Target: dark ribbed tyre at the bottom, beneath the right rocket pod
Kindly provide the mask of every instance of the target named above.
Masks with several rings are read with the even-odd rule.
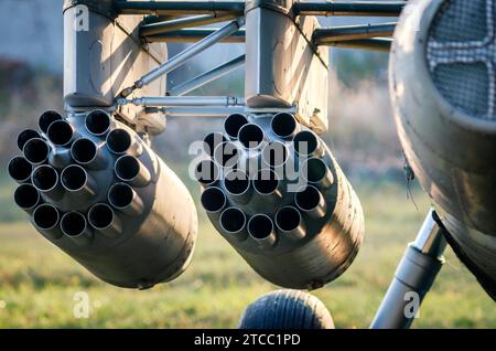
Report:
[[[324,304],[301,290],[277,290],[250,304],[239,329],[334,329]]]

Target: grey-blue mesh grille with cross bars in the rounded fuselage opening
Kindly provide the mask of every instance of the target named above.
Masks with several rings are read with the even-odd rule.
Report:
[[[496,121],[496,0],[445,0],[428,39],[428,63],[446,100]]]

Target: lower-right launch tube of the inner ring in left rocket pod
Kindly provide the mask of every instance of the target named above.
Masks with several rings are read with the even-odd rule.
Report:
[[[66,167],[61,173],[61,181],[64,189],[74,198],[90,199],[97,194],[96,181],[78,164]]]

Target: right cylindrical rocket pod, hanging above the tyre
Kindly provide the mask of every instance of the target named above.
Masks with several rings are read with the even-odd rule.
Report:
[[[231,140],[203,161],[219,181],[196,177],[215,228],[272,284],[315,289],[337,278],[362,245],[364,213],[324,141],[285,113],[233,115],[224,128]]]

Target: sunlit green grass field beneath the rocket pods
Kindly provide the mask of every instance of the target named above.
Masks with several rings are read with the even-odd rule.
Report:
[[[429,201],[414,192],[419,210],[400,185],[359,185],[366,238],[354,265],[314,291],[337,328],[367,328],[406,244],[414,237]],[[246,306],[276,289],[250,270],[205,219],[193,264],[179,279],[147,291],[111,287],[41,238],[18,210],[0,203],[1,328],[235,328]],[[496,328],[496,305],[451,249],[416,328]],[[73,313],[74,294],[86,291],[88,319]]]

